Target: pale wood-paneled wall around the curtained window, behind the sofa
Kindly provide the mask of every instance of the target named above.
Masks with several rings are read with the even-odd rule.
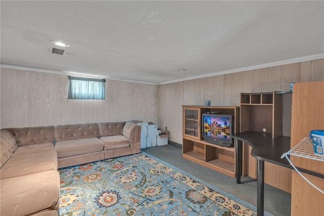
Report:
[[[67,75],[1,68],[0,79],[1,128],[158,119],[157,85],[106,80],[105,100],[71,100]]]

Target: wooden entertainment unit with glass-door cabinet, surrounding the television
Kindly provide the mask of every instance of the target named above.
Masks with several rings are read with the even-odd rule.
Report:
[[[234,131],[239,129],[238,107],[183,105],[182,157],[216,171],[235,177],[234,147],[223,147],[205,142],[201,136],[201,115],[205,112],[234,115]],[[193,131],[193,133],[190,133]]]

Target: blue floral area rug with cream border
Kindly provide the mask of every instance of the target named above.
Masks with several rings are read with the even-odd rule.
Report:
[[[59,172],[59,215],[256,215],[142,153]]]

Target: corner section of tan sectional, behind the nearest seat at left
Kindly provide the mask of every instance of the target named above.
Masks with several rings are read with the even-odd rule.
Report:
[[[54,126],[2,129],[1,147],[17,146],[0,169],[0,179],[57,170]],[[10,136],[11,135],[11,136]]]

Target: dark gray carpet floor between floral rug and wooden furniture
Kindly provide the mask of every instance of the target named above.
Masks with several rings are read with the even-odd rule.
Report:
[[[236,179],[182,158],[182,148],[176,145],[153,146],[142,151],[176,166],[192,176],[214,185],[254,206],[257,205],[257,182],[250,177]],[[290,215],[291,194],[270,185],[264,186],[264,209],[273,215]]]

